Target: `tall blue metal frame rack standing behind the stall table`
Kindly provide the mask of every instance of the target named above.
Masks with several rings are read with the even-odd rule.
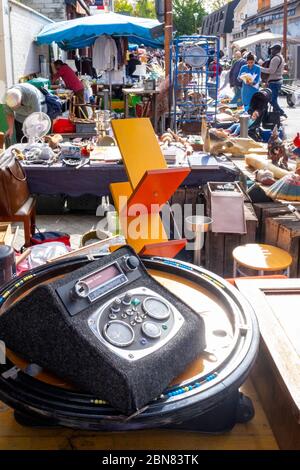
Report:
[[[215,121],[219,75],[209,67],[213,59],[219,66],[220,42],[216,36],[180,36],[172,48],[172,82],[174,93],[174,129],[182,130],[207,121]],[[190,124],[188,124],[190,123]],[[195,124],[194,124],[195,126]],[[197,124],[196,124],[197,126]]]

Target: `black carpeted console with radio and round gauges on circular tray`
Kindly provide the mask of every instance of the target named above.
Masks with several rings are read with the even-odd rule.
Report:
[[[0,316],[0,339],[126,415],[159,397],[206,346],[202,317],[129,246],[40,284]]]

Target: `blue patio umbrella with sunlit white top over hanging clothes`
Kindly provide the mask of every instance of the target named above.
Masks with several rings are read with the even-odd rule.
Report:
[[[163,25],[157,20],[120,15],[113,12],[60,21],[45,26],[38,44],[56,42],[61,49],[77,49],[94,44],[103,35],[126,36],[130,42],[163,47]]]

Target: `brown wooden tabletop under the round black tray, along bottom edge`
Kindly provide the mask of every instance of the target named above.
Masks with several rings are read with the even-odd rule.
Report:
[[[230,433],[205,435],[197,432],[147,430],[91,432],[67,428],[30,428],[15,422],[9,408],[1,413],[1,450],[276,450],[276,440],[250,380],[242,391],[255,408],[254,418],[237,424]]]

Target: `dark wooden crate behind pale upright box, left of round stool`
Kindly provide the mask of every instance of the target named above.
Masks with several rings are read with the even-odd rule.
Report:
[[[255,243],[257,217],[252,204],[244,203],[246,233],[208,232],[205,240],[205,267],[222,277],[232,277],[234,248]]]

